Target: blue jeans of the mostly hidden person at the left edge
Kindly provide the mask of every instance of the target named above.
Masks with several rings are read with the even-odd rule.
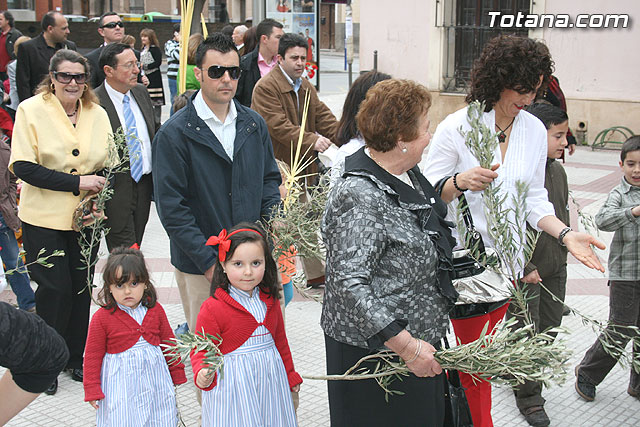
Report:
[[[7,271],[24,266],[22,258],[18,258],[18,241],[13,230],[7,227],[2,214],[0,214],[0,257],[6,266]],[[31,289],[31,281],[27,273],[17,271],[7,275],[7,281],[11,285],[13,293],[16,294],[18,307],[22,310],[29,310],[36,305],[36,297]]]

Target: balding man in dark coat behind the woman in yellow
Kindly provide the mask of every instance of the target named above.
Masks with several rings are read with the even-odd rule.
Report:
[[[16,63],[16,86],[20,102],[31,98],[49,74],[49,61],[60,49],[76,50],[76,44],[67,40],[69,24],[60,12],[47,12],[42,17],[42,33],[20,45]]]

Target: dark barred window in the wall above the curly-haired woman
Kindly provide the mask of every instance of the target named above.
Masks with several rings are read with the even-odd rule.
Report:
[[[490,27],[489,12],[528,14],[531,0],[443,0],[440,25],[444,28],[443,91],[466,92],[473,61],[485,43],[500,34],[528,35],[526,28]]]

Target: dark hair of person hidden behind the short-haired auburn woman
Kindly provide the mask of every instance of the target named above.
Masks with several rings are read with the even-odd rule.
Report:
[[[356,114],[358,114],[360,104],[364,101],[365,96],[367,96],[367,91],[376,83],[390,78],[391,76],[389,74],[379,73],[373,70],[367,71],[353,82],[353,86],[349,89],[349,93],[347,93],[347,97],[344,100],[342,117],[338,122],[338,128],[336,130],[336,139],[334,142],[338,147],[351,141],[360,133],[358,131],[358,124],[356,123]]]

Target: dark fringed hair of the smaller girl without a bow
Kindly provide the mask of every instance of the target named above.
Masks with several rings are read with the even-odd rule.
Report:
[[[111,295],[109,287],[127,283],[131,278],[136,282],[144,283],[145,290],[142,294],[141,304],[147,308],[156,305],[158,294],[151,283],[142,252],[124,246],[113,249],[107,258],[107,264],[102,272],[104,283],[98,293],[98,303],[104,308],[115,311],[118,304]]]

